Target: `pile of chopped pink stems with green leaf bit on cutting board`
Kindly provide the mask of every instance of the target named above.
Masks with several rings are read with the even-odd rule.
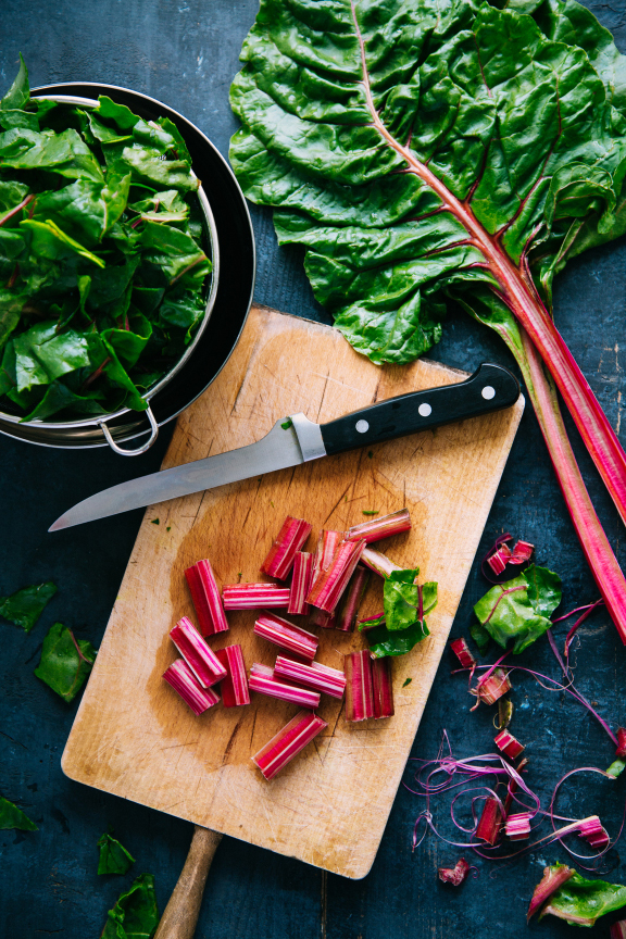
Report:
[[[347,533],[325,529],[311,554],[301,550],[311,525],[289,515],[260,567],[266,576],[283,581],[291,574],[288,587],[275,580],[239,583],[223,585],[220,592],[208,560],[185,571],[200,628],[184,616],[171,630],[170,638],[183,658],[166,669],[165,681],[197,716],[220,701],[218,684],[225,708],[249,704],[250,691],[256,691],[303,709],[252,756],[266,779],[273,779],[327,726],[315,714],[322,694],[341,700],[346,693],[346,719],[350,722],[393,716],[387,656],[410,651],[428,635],[424,617],[436,605],[437,585],[417,585],[418,568],[402,569],[366,546],[410,528],[409,512],[402,509]],[[311,625],[349,633],[370,580],[368,568],[385,578],[385,612],[367,628],[368,621],[360,622],[359,629],[371,648],[348,653],[345,671],[333,668],[315,660],[318,639],[313,633],[274,611],[311,613]],[[254,662],[247,676],[241,646],[213,652],[206,639],[228,629],[226,610],[259,608],[264,609],[256,616],[254,634],[283,651],[274,666]]]

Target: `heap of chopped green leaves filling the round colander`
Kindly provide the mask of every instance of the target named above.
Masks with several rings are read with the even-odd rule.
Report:
[[[176,126],[101,97],[0,101],[0,411],[148,405],[204,316],[199,180]]]

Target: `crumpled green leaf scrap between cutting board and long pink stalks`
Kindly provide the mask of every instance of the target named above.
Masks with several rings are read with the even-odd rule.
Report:
[[[480,626],[503,649],[523,652],[552,625],[550,615],[561,602],[561,578],[531,564],[518,577],[497,584],[474,606]],[[476,639],[481,635],[472,630]]]

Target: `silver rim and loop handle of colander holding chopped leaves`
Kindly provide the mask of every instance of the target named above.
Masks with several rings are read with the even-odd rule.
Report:
[[[93,85],[93,87],[107,87],[107,88],[110,88],[112,91],[115,91],[116,89],[118,89],[121,91],[129,91],[129,92],[135,93],[135,95],[140,93],[140,92],[133,91],[130,88],[123,88],[121,86],[114,86],[114,85],[98,86],[96,83],[85,83],[85,84]],[[33,89],[33,90],[37,91],[37,89]],[[34,100],[57,101],[57,102],[63,103],[63,104],[80,104],[85,108],[97,108],[98,107],[98,101],[95,98],[83,98],[83,97],[76,96],[76,95],[46,95],[46,93],[36,95],[36,93],[34,93],[34,95],[32,95],[32,97]],[[147,95],[141,95],[141,97],[148,99],[149,101],[154,102],[155,104],[162,103],[162,102],[158,101],[155,98],[149,98],[149,96],[147,96]],[[167,105],[164,105],[164,107],[167,107]],[[168,108],[168,110],[172,111],[173,109]],[[178,113],[178,112],[175,112],[175,113]],[[179,115],[179,116],[183,116],[183,115]],[[185,120],[187,121],[187,118],[185,118]],[[188,123],[190,123],[190,122],[188,122]],[[202,133],[202,132],[199,132],[199,133]],[[202,136],[204,136],[204,135],[202,135]],[[208,138],[205,138],[205,139],[208,140]],[[191,170],[191,173],[192,173],[192,175],[195,175],[192,170]],[[191,354],[196,350],[196,347],[198,346],[198,342],[200,341],[206,326],[209,325],[209,321],[211,318],[211,314],[212,314],[213,308],[215,305],[215,299],[217,296],[217,287],[218,287],[218,281],[220,281],[220,243],[218,243],[218,237],[217,237],[217,228],[215,226],[215,220],[213,217],[213,212],[211,211],[211,205],[210,205],[209,199],[206,198],[206,193],[204,192],[204,189],[201,185],[199,186],[199,188],[197,190],[197,195],[198,195],[198,199],[200,202],[200,206],[201,206],[203,215],[204,215],[204,221],[206,223],[209,242],[210,242],[210,247],[211,247],[211,264],[212,264],[211,286],[210,286],[209,293],[206,297],[204,316],[202,317],[202,323],[198,327],[196,335],[193,336],[193,339],[191,340],[191,342],[189,343],[189,347],[185,350],[185,352],[183,353],[180,359],[178,359],[176,361],[176,363],[172,366],[172,368],[162,378],[160,378],[155,385],[153,385],[151,388],[148,389],[148,391],[146,391],[143,395],[141,395],[141,398],[148,402],[148,405],[149,405],[150,400],[154,397],[154,395],[156,395],[159,391],[161,391],[168,384],[168,381],[175,375],[177,375],[178,372],[188,362]],[[8,423],[8,424],[20,424],[22,426],[32,426],[32,427],[37,427],[37,428],[40,428],[43,430],[76,429],[76,428],[80,428],[80,427],[85,427],[85,428],[100,427],[101,429],[103,429],[107,422],[114,421],[118,417],[122,417],[124,414],[137,414],[138,416],[141,414],[148,415],[148,417],[150,420],[150,425],[152,427],[152,434],[151,434],[149,441],[147,441],[145,447],[140,448],[139,450],[128,451],[129,453],[130,452],[133,452],[133,453],[143,452],[145,449],[148,449],[148,447],[151,446],[151,443],[154,441],[154,439],[156,437],[156,434],[159,433],[158,426],[156,426],[156,428],[154,428],[154,423],[153,423],[153,417],[151,416],[150,406],[148,406],[148,409],[146,411],[134,411],[132,408],[121,408],[117,411],[111,411],[111,412],[108,412],[107,414],[97,414],[89,420],[76,418],[74,421],[38,421],[36,418],[35,421],[27,421],[27,422],[25,422],[23,420],[23,417],[20,417],[16,414],[10,414],[7,411],[0,410],[0,422]],[[174,415],[174,416],[176,416],[176,415]],[[150,429],[150,428],[148,428],[148,429]],[[124,439],[130,440],[130,439],[134,439],[135,437],[139,437],[146,433],[148,433],[148,430],[141,429],[141,430],[138,430],[136,434],[133,434],[132,437],[125,437]],[[33,441],[33,442],[39,443],[40,441]],[[42,446],[47,446],[47,445],[42,445]],[[114,443],[111,440],[109,440],[109,437],[107,434],[105,434],[105,440],[100,446],[104,446],[104,447],[111,446],[114,450],[116,450],[120,453],[125,452],[125,451],[118,449],[116,446],[114,446]]]

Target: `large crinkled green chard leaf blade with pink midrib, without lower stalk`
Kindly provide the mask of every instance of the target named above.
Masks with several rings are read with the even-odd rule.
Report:
[[[437,341],[451,291],[501,290],[486,243],[535,248],[549,300],[626,228],[624,58],[574,0],[263,0],[241,59],[239,181],[376,362]]]

